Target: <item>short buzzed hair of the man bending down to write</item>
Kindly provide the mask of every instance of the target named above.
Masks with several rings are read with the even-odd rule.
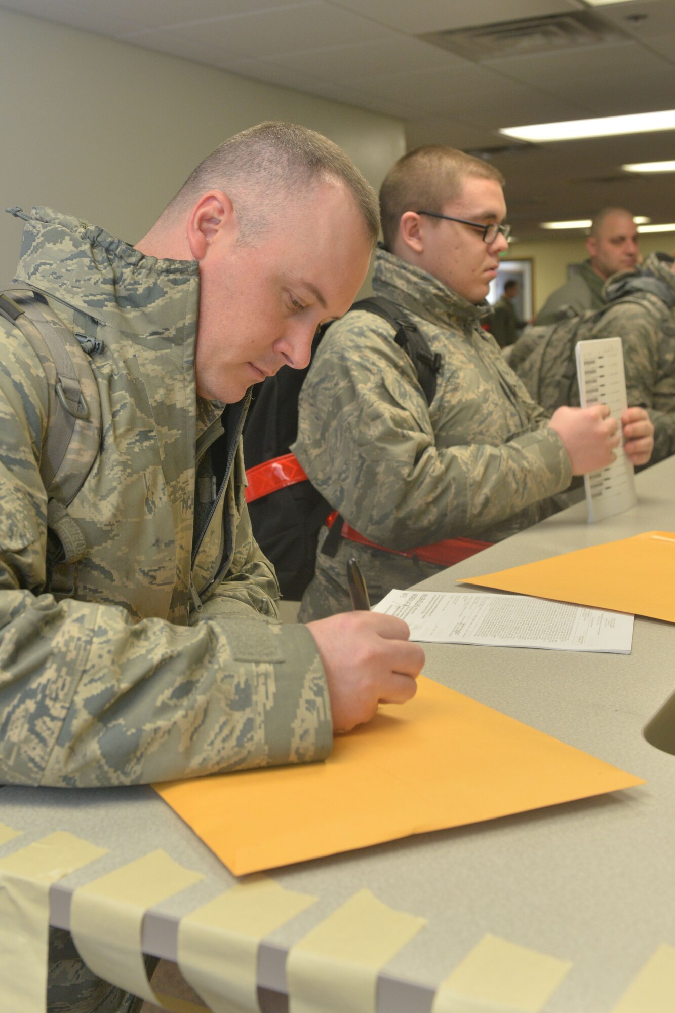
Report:
[[[174,219],[202,193],[221,189],[237,214],[238,241],[247,242],[283,213],[290,197],[328,180],[342,182],[354,198],[374,247],[380,228],[375,190],[342,148],[297,124],[270,121],[223,141],[190,174],[162,218]]]

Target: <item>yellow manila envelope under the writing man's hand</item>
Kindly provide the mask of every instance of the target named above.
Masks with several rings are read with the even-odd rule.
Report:
[[[335,737],[324,763],[153,787],[243,875],[644,784],[491,707],[419,678]]]

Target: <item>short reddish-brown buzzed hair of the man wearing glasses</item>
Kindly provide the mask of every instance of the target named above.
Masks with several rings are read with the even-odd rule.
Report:
[[[494,179],[504,186],[499,169],[456,148],[429,144],[408,151],[387,172],[380,187],[380,217],[384,246],[393,248],[401,215],[431,211],[439,215],[448,201],[458,198],[464,179]]]

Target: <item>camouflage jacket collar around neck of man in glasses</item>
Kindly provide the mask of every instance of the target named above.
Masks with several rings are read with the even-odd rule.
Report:
[[[430,323],[443,327],[456,327],[457,323],[462,328],[472,323],[479,326],[479,321],[492,313],[492,306],[484,300],[477,305],[467,302],[433,275],[381,246],[375,253],[373,290]]]

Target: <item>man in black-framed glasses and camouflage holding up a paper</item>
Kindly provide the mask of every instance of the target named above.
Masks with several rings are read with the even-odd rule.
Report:
[[[489,163],[432,146],[400,158],[382,184],[373,289],[425,339],[435,392],[428,403],[380,317],[351,311],[324,336],[293,450],[339,516],[319,538],[304,620],[349,606],[350,556],[375,602],[534,524],[574,475],[614,459],[620,423],[633,461],[649,459],[644,409],[620,420],[604,406],[549,417],[482,329],[510,235],[504,182]]]

